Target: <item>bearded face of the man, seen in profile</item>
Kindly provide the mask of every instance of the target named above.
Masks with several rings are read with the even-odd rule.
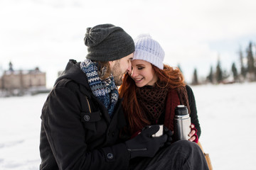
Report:
[[[122,57],[122,59],[114,60],[113,62],[110,62],[110,68],[112,75],[114,77],[114,83],[117,86],[122,85],[122,79],[124,77],[124,74],[127,72],[132,71],[132,60],[133,53],[130,55],[127,55],[126,57]]]

